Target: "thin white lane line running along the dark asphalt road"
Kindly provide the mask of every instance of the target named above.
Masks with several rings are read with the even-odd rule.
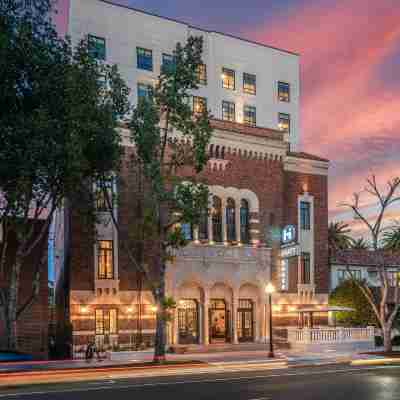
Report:
[[[300,373],[285,373],[285,374],[271,374],[271,375],[256,375],[256,376],[238,376],[230,378],[215,378],[215,379],[192,379],[188,381],[173,381],[173,382],[154,382],[154,383],[139,383],[131,385],[115,385],[115,386],[98,386],[90,388],[76,388],[76,389],[64,389],[64,390],[49,390],[49,391],[36,391],[36,392],[21,392],[21,393],[4,393],[0,394],[0,398],[7,397],[22,397],[22,396],[36,396],[43,394],[54,394],[54,393],[75,393],[75,392],[88,392],[88,391],[98,391],[98,390],[123,390],[123,389],[136,389],[142,387],[156,387],[156,386],[172,386],[172,385],[187,385],[196,383],[215,383],[215,382],[233,382],[233,381],[251,381],[258,379],[269,379],[277,377],[286,376],[308,376],[308,375],[324,375],[324,374],[336,374],[336,373],[357,373],[363,371],[376,371],[380,369],[399,369],[400,366],[390,365],[390,366],[379,366],[373,368],[346,368],[346,369],[333,369],[327,371],[307,371]]]

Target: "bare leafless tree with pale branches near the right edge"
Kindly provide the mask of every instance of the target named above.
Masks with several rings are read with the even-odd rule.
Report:
[[[400,200],[399,188],[400,178],[393,178],[386,184],[385,189],[378,186],[376,177],[372,175],[366,180],[364,192],[369,194],[378,203],[378,214],[374,221],[370,221],[362,212],[360,207],[360,193],[354,193],[351,203],[344,203],[343,206],[349,208],[355,217],[365,225],[371,235],[371,247],[377,259],[377,270],[380,281],[379,296],[375,296],[371,288],[365,282],[354,279],[349,263],[346,265],[347,271],[352,276],[354,282],[370,303],[382,328],[383,341],[386,352],[392,350],[391,331],[396,315],[400,310],[400,286],[391,287],[387,266],[385,265],[385,252],[381,249],[381,239],[385,232],[383,221],[388,208]]]

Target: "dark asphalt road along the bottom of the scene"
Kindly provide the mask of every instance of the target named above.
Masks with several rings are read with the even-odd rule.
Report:
[[[2,389],[0,400],[399,400],[400,367],[325,366]]]

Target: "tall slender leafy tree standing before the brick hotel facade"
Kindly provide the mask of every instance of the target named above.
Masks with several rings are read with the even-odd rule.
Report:
[[[151,243],[158,259],[152,264],[144,261],[146,257],[135,256],[126,242],[124,250],[145,277],[157,304],[155,362],[165,360],[165,325],[174,304],[165,292],[167,263],[174,249],[187,244],[182,224],[198,224],[208,208],[208,189],[199,173],[207,162],[210,115],[206,106],[197,110],[190,106],[191,91],[199,84],[202,48],[201,37],[176,45],[174,62],[164,66],[154,90],[139,100],[128,125],[135,148],[132,165],[136,172],[141,169],[146,183],[142,219],[135,221],[136,229],[141,226],[141,253],[148,254],[144,248]],[[113,220],[120,232],[118,221]],[[124,241],[123,235],[119,238]]]

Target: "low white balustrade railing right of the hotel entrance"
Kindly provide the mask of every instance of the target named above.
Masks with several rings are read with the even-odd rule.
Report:
[[[374,340],[374,327],[288,329],[289,343],[349,343]]]

